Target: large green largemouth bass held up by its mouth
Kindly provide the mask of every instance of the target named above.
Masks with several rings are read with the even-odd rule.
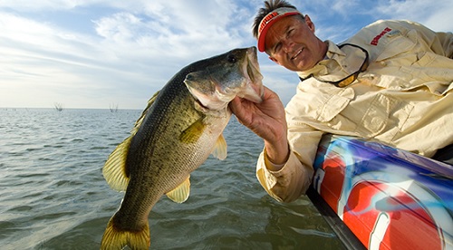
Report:
[[[211,153],[226,158],[228,103],[236,96],[262,101],[262,79],[256,48],[236,49],[189,64],[149,100],[130,137],[102,168],[107,183],[126,193],[101,249],[149,248],[151,208],[164,194],[184,202],[190,172]]]

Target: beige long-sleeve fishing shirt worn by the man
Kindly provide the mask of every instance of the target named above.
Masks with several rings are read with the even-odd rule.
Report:
[[[279,171],[265,150],[256,176],[269,195],[289,202],[312,182],[324,133],[355,136],[432,157],[453,143],[453,34],[416,23],[378,21],[344,43],[328,43],[326,59],[306,72],[285,108],[291,149]],[[344,44],[343,43],[343,44]],[[350,85],[338,81],[369,66]],[[310,77],[313,75],[313,77]]]

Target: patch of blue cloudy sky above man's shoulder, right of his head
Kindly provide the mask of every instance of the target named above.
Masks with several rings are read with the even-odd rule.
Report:
[[[425,0],[295,2],[304,14],[310,15],[318,36],[335,43],[341,43],[361,27],[379,19],[415,21],[435,31],[453,30],[453,15],[450,14],[453,13],[453,5],[450,0],[439,0],[435,5]]]

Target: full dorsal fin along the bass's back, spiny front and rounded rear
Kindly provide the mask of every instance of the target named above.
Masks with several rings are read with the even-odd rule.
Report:
[[[126,169],[126,159],[128,157],[130,141],[139,130],[141,123],[146,116],[146,113],[148,112],[154,101],[156,101],[158,95],[159,91],[157,91],[151,97],[151,99],[149,99],[148,106],[143,112],[141,112],[139,120],[135,122],[134,128],[130,130],[130,137],[124,139],[124,141],[121,142],[120,145],[118,145],[116,149],[113,150],[113,152],[111,152],[109,159],[107,159],[107,161],[105,162],[104,168],[102,168],[102,175],[104,176],[109,186],[114,190],[126,191],[126,188],[128,187],[129,177]]]

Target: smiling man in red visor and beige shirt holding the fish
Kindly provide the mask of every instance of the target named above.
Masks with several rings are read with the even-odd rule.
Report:
[[[453,34],[379,21],[337,45],[314,31],[310,17],[293,5],[265,2],[255,17],[258,49],[302,82],[285,109],[269,89],[261,103],[236,98],[230,104],[265,140],[256,176],[269,195],[290,202],[305,193],[325,133],[451,156]]]

